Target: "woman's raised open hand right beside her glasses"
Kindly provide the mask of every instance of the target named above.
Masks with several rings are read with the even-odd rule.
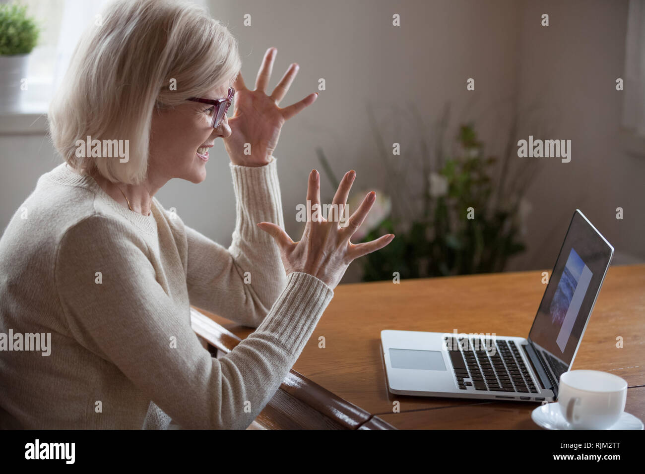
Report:
[[[266,50],[264,61],[257,73],[255,90],[246,88],[242,73],[237,75],[233,83],[235,88],[233,116],[228,119],[231,135],[224,138],[226,152],[233,164],[264,166],[269,163],[284,122],[306,106],[313,104],[318,97],[314,92],[288,107],[278,106],[289,90],[293,78],[298,74],[299,66],[296,63],[293,63],[284,73],[273,93],[266,95],[266,86],[271,77],[275,54],[277,54],[276,48]],[[248,149],[247,143],[250,144],[250,155],[244,154],[244,150]]]

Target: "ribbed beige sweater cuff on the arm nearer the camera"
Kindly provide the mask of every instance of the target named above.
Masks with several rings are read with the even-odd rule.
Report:
[[[309,273],[292,272],[283,292],[254,333],[275,337],[289,355],[300,353],[333,298],[333,290]]]

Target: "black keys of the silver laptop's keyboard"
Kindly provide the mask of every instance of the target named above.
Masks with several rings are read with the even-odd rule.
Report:
[[[475,390],[539,393],[515,342],[463,337],[457,342],[452,336],[444,341],[461,390],[474,386]]]

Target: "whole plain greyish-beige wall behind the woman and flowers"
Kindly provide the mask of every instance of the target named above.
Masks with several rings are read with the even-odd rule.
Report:
[[[368,102],[384,142],[402,144],[395,166],[404,168],[412,166],[419,137],[432,143],[432,124],[446,101],[453,103],[452,126],[458,116],[477,119],[492,152],[506,138],[504,117],[514,108],[510,98],[518,94],[521,107],[535,97],[544,101],[543,119],[557,127],[552,138],[572,139],[573,157],[566,164],[543,159],[528,192],[533,204],[529,249],[508,270],[552,266],[576,206],[617,251],[645,259],[637,238],[644,230],[639,181],[645,159],[623,153],[615,137],[620,93],[613,82],[622,74],[626,1],[226,0],[208,5],[239,38],[247,86],[255,83],[270,46],[278,54],[269,90],[290,63],[300,65],[281,106],[317,91],[319,78],[326,80],[317,101],[285,124],[275,150],[286,231],[294,240],[301,228],[295,206],[304,202],[310,170],[321,170],[317,146],[339,177],[356,170],[354,192],[382,188],[388,180],[368,124]],[[542,10],[551,15],[551,26],[544,29]],[[243,26],[246,13],[252,26]],[[401,15],[399,28],[392,26],[394,13]],[[468,77],[475,78],[475,92],[466,91]],[[551,84],[554,88],[542,95]],[[421,123],[413,120],[410,102],[419,108]],[[498,115],[495,106],[502,107]],[[175,206],[186,224],[228,245],[235,203],[228,157],[218,142],[204,183],[173,180],[157,197],[164,206]],[[0,136],[1,228],[37,177],[55,164],[44,137]],[[324,175],[322,182],[321,196],[330,200],[335,190]],[[617,206],[625,208],[624,221],[613,219]],[[344,282],[357,279],[358,267],[358,262],[350,266]]]

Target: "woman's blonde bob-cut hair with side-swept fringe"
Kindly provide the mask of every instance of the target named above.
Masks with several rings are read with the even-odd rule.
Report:
[[[50,138],[66,163],[112,182],[139,184],[148,170],[156,110],[230,84],[237,40],[186,0],[115,0],[77,44],[49,108]],[[175,86],[173,86],[175,84]],[[77,141],[128,140],[128,159],[81,156]],[[94,154],[94,153],[90,153]]]

